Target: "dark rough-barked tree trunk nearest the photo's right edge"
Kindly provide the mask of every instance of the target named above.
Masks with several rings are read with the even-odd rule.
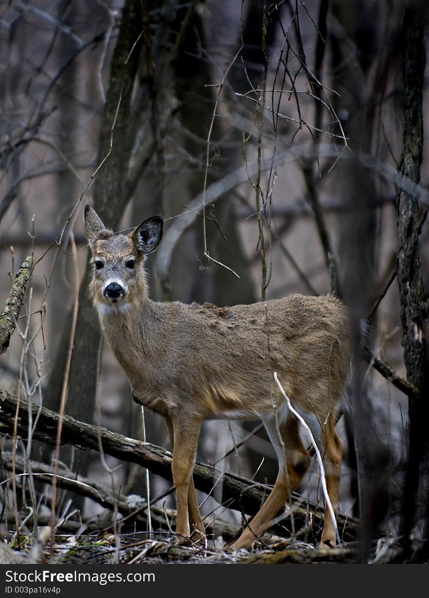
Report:
[[[421,397],[409,395],[409,453],[401,532],[406,554],[416,523],[420,466],[429,415],[427,305],[419,255],[418,194],[412,184],[420,182],[423,148],[422,93],[425,71],[424,16],[416,5],[407,7],[403,19],[403,138],[398,166],[398,284],[401,301],[404,360],[407,379]],[[427,515],[426,515],[427,517]],[[427,528],[426,528],[427,530]]]

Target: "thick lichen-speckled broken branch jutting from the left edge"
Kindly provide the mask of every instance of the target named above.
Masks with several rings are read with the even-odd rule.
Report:
[[[15,282],[10,289],[4,312],[0,316],[0,354],[7,351],[10,338],[15,331],[35,263],[35,258],[29,255],[16,273]]]

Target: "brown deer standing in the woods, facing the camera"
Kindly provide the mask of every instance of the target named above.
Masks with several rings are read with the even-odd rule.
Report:
[[[232,307],[153,301],[145,260],[162,238],[160,216],[128,234],[114,233],[86,205],[84,233],[92,251],[89,292],[102,332],[134,401],[165,419],[177,536],[205,538],[192,476],[203,420],[262,420],[278,458],[275,484],[232,550],[250,548],[263,535],[308,471],[311,456],[274,371],[291,405],[316,422],[336,512],[342,441],[335,424],[351,358],[348,311],[341,301],[299,294]],[[325,506],[321,547],[336,545],[335,529]]]

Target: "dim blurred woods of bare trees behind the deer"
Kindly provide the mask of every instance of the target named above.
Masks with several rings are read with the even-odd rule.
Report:
[[[73,231],[81,283],[65,411],[142,438],[141,412],[87,295],[86,202],[114,230],[166,219],[148,260],[158,300],[251,303],[324,294],[334,281],[355,345],[338,424],[339,510],[360,518],[356,559],[382,545],[397,546],[400,561],[427,559],[427,16],[425,2],[403,0],[1,2],[2,303],[32,245],[39,261],[0,388],[60,408]],[[223,458],[253,428],[205,423],[198,459],[272,483],[264,431]],[[145,434],[169,447],[150,413]],[[7,434],[2,444],[10,450]],[[31,459],[53,457],[35,440],[17,451],[27,472]],[[60,460],[115,492],[147,496],[139,466],[66,446]],[[148,480],[150,498],[169,486]],[[3,489],[2,525],[13,530],[10,483]],[[40,522],[50,490],[20,480],[22,518],[31,489],[42,492]],[[317,501],[316,468],[300,490]],[[203,512],[240,523],[217,496]],[[59,518],[100,513],[77,493],[58,494]]]

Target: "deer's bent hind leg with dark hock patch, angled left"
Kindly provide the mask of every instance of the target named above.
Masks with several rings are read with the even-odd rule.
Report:
[[[308,451],[302,444],[299,435],[299,422],[296,417],[288,417],[278,426],[273,416],[264,418],[263,422],[277,453],[279,472],[270,495],[250,525],[232,544],[231,548],[233,549],[249,548],[255,540],[255,536],[260,536],[265,532],[276,514],[284,507],[290,493],[302,480],[311,461]]]

